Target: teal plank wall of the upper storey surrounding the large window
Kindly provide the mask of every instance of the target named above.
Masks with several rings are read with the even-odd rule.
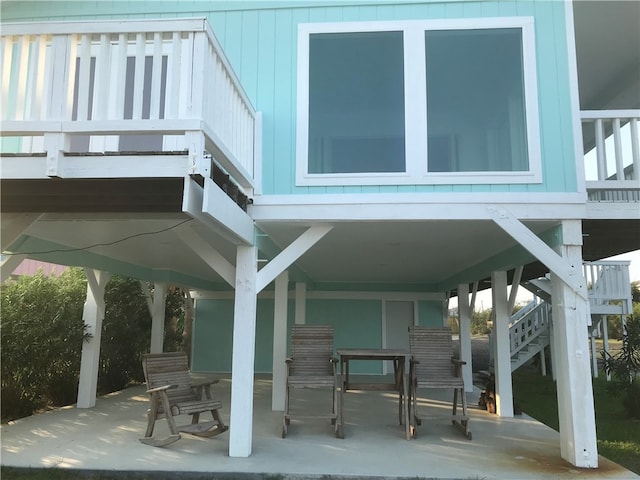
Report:
[[[198,17],[209,19],[257,110],[263,113],[264,194],[359,192],[575,192],[564,2],[2,2],[3,21]],[[316,6],[311,6],[316,5]],[[276,7],[277,6],[277,7]],[[289,8],[295,7],[295,8]],[[228,10],[225,10],[228,9]],[[303,22],[533,16],[542,184],[296,187],[297,25]]]

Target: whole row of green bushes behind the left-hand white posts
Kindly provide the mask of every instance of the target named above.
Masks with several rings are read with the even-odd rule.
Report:
[[[84,270],[60,277],[41,272],[9,281],[0,290],[1,415],[7,421],[47,406],[74,403],[83,339],[87,282]],[[165,351],[179,350],[184,294],[171,289],[165,315]],[[151,317],[137,280],[114,276],[105,290],[98,393],[144,379],[141,356],[149,351]]]

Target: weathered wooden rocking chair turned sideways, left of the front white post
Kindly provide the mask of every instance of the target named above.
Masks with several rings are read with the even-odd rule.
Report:
[[[219,400],[211,398],[211,385],[218,380],[192,383],[187,355],[183,352],[147,354],[142,358],[142,368],[147,382],[151,406],[147,412],[147,431],[139,440],[154,447],[164,447],[180,440],[180,432],[199,437],[212,437],[226,432],[218,409]],[[211,412],[213,421],[200,422],[200,414]],[[191,415],[191,424],[176,425],[175,416]],[[156,420],[165,417],[171,435],[154,438]]]

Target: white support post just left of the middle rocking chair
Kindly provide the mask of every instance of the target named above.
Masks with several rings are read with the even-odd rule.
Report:
[[[273,311],[273,381],[271,410],[284,411],[287,381],[285,358],[287,357],[287,305],[289,301],[289,272],[285,270],[276,277],[276,292]]]

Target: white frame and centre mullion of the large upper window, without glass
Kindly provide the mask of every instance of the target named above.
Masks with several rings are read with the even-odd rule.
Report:
[[[522,57],[529,170],[427,172],[427,93],[425,32],[519,28]],[[404,42],[405,171],[382,173],[309,173],[309,39],[316,33],[401,31]],[[430,185],[541,183],[542,162],[538,114],[533,17],[447,20],[301,23],[298,25],[296,185]]]

